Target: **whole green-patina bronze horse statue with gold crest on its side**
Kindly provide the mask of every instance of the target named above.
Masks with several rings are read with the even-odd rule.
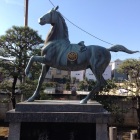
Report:
[[[101,91],[106,85],[102,74],[111,60],[110,51],[123,51],[126,53],[136,53],[122,45],[115,45],[109,49],[102,46],[90,45],[85,46],[81,41],[78,44],[71,44],[68,36],[68,28],[58,6],[50,10],[47,14],[39,19],[40,25],[51,24],[51,30],[46,38],[41,56],[32,56],[25,69],[25,74],[31,77],[30,68],[33,62],[42,63],[42,73],[38,80],[37,88],[34,94],[27,100],[32,102],[39,95],[41,85],[45,79],[46,73],[50,67],[67,71],[77,71],[90,68],[96,77],[96,85],[92,91],[80,101],[81,104],[87,103],[92,95]]]

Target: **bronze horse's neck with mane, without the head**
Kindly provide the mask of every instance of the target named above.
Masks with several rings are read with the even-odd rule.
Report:
[[[52,40],[69,38],[68,27],[66,25],[65,19],[60,12],[55,11],[58,14],[58,21],[52,24],[51,30],[48,33],[45,44]]]

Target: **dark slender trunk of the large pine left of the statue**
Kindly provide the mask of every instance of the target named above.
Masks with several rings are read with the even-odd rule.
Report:
[[[12,106],[13,106],[13,109],[14,109],[15,106],[16,106],[15,88],[16,88],[16,83],[17,83],[18,77],[17,76],[14,76],[13,79],[14,80],[13,80],[13,84],[12,84],[11,101],[12,101]]]

